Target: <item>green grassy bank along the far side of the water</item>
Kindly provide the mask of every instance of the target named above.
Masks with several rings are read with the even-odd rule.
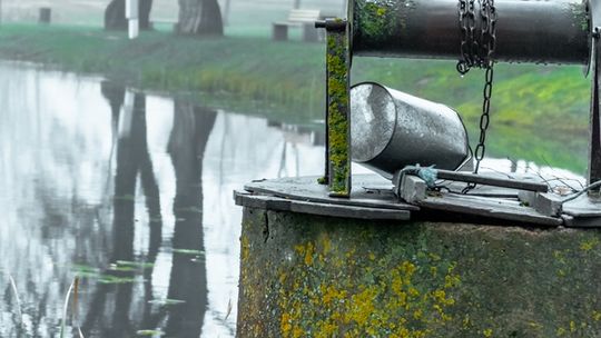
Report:
[[[273,43],[260,37],[191,39],[167,32],[128,41],[125,33],[98,28],[12,24],[0,29],[0,58],[102,73],[139,88],[217,100],[209,103],[282,120],[323,118],[319,43]],[[589,105],[582,69],[499,64],[495,76],[492,152],[582,172]],[[454,62],[355,58],[353,81],[364,80],[450,105],[475,131],[483,84],[477,70],[461,78]]]

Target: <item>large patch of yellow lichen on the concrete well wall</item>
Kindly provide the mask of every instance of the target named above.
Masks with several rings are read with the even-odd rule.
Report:
[[[337,249],[326,237],[295,246],[296,259],[305,268],[286,275],[294,280],[280,278],[282,284],[293,284],[293,288],[282,286],[285,291],[279,296],[283,337],[294,337],[295,330],[316,337],[332,337],[332,332],[341,337],[427,337],[431,327],[452,319],[446,309],[454,306],[452,292],[461,282],[455,264],[423,255],[425,265],[404,260],[391,269],[390,257],[361,257],[354,248]],[[357,276],[319,278],[343,264]],[[432,268],[446,274],[432,277]],[[435,279],[432,289],[423,289],[424,278]]]

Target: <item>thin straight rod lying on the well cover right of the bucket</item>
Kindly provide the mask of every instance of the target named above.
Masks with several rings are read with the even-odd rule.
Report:
[[[535,191],[535,192],[549,191],[549,187],[545,183],[526,182],[523,180],[496,178],[496,177],[489,177],[489,176],[475,175],[475,173],[470,173],[470,172],[461,172],[461,171],[436,170],[436,172],[437,172],[436,178],[442,179],[442,180],[476,183],[476,185],[518,189],[518,190],[528,190],[528,191]]]

